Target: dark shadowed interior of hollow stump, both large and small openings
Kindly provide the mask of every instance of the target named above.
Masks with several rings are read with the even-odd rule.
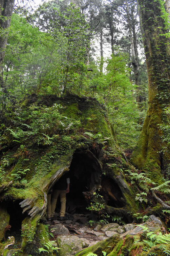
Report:
[[[87,213],[87,207],[93,200],[94,192],[100,189],[106,204],[120,208],[123,207],[123,196],[119,186],[114,180],[103,177],[102,165],[96,156],[89,150],[75,152],[70,164],[70,192],[67,194],[66,212]],[[60,210],[57,201],[56,211]]]

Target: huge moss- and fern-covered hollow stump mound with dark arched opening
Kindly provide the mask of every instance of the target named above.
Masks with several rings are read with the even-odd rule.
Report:
[[[38,253],[41,239],[34,246],[34,238],[46,213],[47,193],[68,170],[70,208],[83,202],[82,209],[87,211],[90,202],[103,204],[101,196],[103,212],[132,220],[137,210],[135,195],[120,171],[127,163],[107,113],[95,99],[31,95],[15,110],[6,111],[4,120],[1,203],[7,205],[12,227],[17,219],[11,232],[21,232],[23,253],[34,247]],[[99,197],[94,196],[98,189]]]

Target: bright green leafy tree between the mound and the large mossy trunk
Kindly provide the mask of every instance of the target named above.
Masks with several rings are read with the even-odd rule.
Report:
[[[95,79],[95,97],[108,111],[119,146],[133,148],[140,133],[139,111],[132,95],[135,85],[129,81],[130,70],[126,63],[127,56],[119,50],[108,57],[106,72]]]

